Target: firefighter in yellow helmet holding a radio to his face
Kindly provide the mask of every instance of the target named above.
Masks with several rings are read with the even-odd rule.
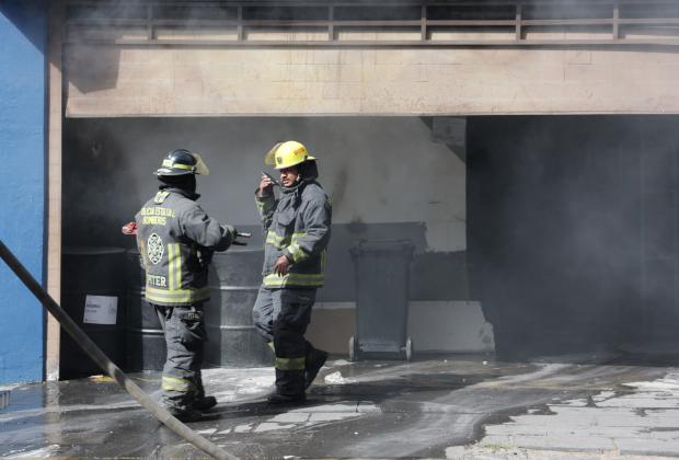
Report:
[[[327,359],[304,338],[317,289],[324,283],[332,218],[315,160],[300,142],[275,145],[265,161],[279,172],[280,184],[262,174],[255,193],[265,250],[253,320],[276,355],[271,404],[306,401],[306,389]],[[280,185],[278,197],[274,185]]]

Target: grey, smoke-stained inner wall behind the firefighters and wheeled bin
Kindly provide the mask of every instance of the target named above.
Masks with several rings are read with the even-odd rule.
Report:
[[[154,193],[151,172],[161,157],[186,147],[211,170],[198,179],[203,206],[253,230],[252,244],[261,245],[253,193],[264,152],[281,139],[298,139],[320,158],[320,182],[333,199],[329,280],[310,332],[322,346],[346,353],[354,333],[349,248],[360,239],[410,239],[415,347],[493,348],[481,307],[469,297],[465,165],[417,117],[69,119],[65,244],[131,246],[120,225]]]

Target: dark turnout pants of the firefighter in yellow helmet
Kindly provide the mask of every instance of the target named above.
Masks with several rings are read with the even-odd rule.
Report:
[[[304,338],[311,321],[315,289],[268,289],[262,286],[252,319],[257,332],[276,355],[276,391],[296,395],[304,392],[307,358],[314,350]]]

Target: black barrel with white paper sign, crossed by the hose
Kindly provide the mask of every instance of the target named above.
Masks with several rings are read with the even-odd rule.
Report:
[[[65,248],[61,304],[71,319],[114,361],[125,364],[125,250]],[[61,332],[59,373],[73,379],[102,373],[76,342]]]

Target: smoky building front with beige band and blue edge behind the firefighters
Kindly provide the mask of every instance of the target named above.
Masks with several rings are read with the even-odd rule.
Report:
[[[665,337],[660,324],[679,318],[679,9],[561,3],[3,1],[2,239],[59,299],[62,246],[129,248],[119,225],[165,151],[204,152],[217,174],[199,183],[204,206],[256,230],[262,154],[297,138],[322,159],[335,203],[310,331],[331,350],[354,331],[348,250],[360,239],[415,244],[416,349],[511,357],[584,349],[573,337],[595,348]],[[587,207],[583,184],[615,194]],[[564,199],[532,203],[539,191]],[[562,225],[541,231],[554,207]],[[634,231],[611,240],[617,225]],[[0,276],[11,318],[0,381],[58,378],[58,325]],[[611,292],[626,292],[624,307]],[[617,332],[597,334],[607,324]]]

